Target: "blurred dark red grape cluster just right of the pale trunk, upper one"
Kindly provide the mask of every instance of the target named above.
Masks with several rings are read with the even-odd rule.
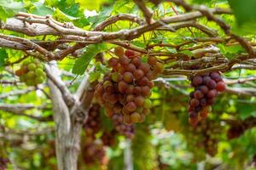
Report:
[[[100,131],[100,105],[93,104],[88,111],[88,117],[84,123],[84,130],[87,138],[95,139],[96,133]]]

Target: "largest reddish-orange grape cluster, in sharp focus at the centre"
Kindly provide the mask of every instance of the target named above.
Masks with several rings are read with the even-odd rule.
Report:
[[[151,107],[152,80],[163,72],[164,65],[153,56],[143,62],[141,54],[121,47],[114,54],[118,58],[108,60],[112,71],[96,86],[96,99],[108,116],[122,113],[125,124],[143,122]]]

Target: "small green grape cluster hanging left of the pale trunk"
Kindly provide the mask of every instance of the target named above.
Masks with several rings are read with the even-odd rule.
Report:
[[[23,61],[20,69],[15,71],[15,75],[20,77],[20,82],[25,82],[27,86],[35,86],[46,79],[44,65],[38,59]]]

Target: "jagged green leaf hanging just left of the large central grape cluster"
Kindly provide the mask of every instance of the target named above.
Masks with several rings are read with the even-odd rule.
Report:
[[[84,50],[84,54],[76,60],[73,65],[72,72],[74,74],[82,75],[86,70],[87,66],[90,64],[90,60],[101,51],[108,49],[108,46],[104,43],[91,44]]]

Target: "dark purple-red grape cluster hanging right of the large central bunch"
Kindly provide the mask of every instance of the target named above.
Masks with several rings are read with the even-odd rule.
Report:
[[[190,77],[195,91],[190,94],[189,99],[189,122],[195,125],[201,118],[206,118],[212,110],[214,98],[218,92],[225,90],[225,84],[218,72],[206,73]]]

